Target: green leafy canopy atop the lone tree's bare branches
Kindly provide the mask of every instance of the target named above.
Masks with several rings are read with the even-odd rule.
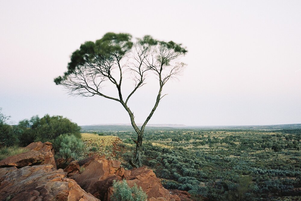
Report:
[[[67,71],[63,76],[55,78],[54,82],[57,85],[64,84],[64,81],[67,80],[70,75],[77,74],[78,70],[85,71],[86,67],[89,67],[89,64],[92,63],[99,64],[106,63],[107,61],[109,63],[114,61],[119,62],[131,51],[133,46],[137,45],[141,46],[144,53],[151,47],[157,47],[157,49],[163,50],[163,52],[173,52],[173,55],[176,56],[183,55],[187,52],[187,50],[182,47],[182,44],[177,44],[173,41],[158,41],[146,35],[142,39],[137,39],[137,43],[134,43],[132,42],[132,35],[129,33],[109,32],[95,42],[87,41],[83,43],[79,49],[74,51],[70,57]],[[169,65],[169,62],[172,60],[172,58],[160,58],[159,54],[158,58],[154,57],[154,59],[161,60],[160,62],[164,65]]]

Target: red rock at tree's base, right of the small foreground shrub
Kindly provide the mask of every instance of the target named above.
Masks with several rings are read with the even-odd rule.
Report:
[[[180,198],[177,195],[172,195],[166,190],[160,180],[156,177],[155,173],[147,169],[147,167],[134,168],[130,171],[126,171],[122,176],[129,184],[129,187],[133,187],[136,184],[141,187],[142,190],[147,194],[149,201],[178,201]],[[108,189],[105,200],[110,201],[110,196],[113,193],[113,187]]]

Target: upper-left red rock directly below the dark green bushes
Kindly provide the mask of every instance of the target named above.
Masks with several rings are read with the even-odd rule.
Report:
[[[26,146],[25,149],[29,151],[10,156],[0,161],[0,167],[16,166],[22,168],[29,165],[51,164],[56,168],[52,143],[31,143]]]

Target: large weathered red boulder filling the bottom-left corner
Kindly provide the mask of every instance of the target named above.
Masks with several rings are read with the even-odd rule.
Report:
[[[67,178],[62,169],[57,170],[53,165],[0,170],[6,172],[4,175],[0,173],[0,200],[10,197],[11,201],[99,201],[82,190],[73,179]]]

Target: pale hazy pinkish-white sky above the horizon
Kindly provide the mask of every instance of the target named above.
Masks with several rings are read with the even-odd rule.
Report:
[[[301,1],[0,1],[0,107],[17,123],[62,115],[79,125],[129,123],[102,97],[70,97],[53,79],[71,53],[107,32],[182,43],[187,67],[151,124],[301,123]],[[127,86],[128,87],[128,86]],[[145,120],[158,86],[129,102]]]

